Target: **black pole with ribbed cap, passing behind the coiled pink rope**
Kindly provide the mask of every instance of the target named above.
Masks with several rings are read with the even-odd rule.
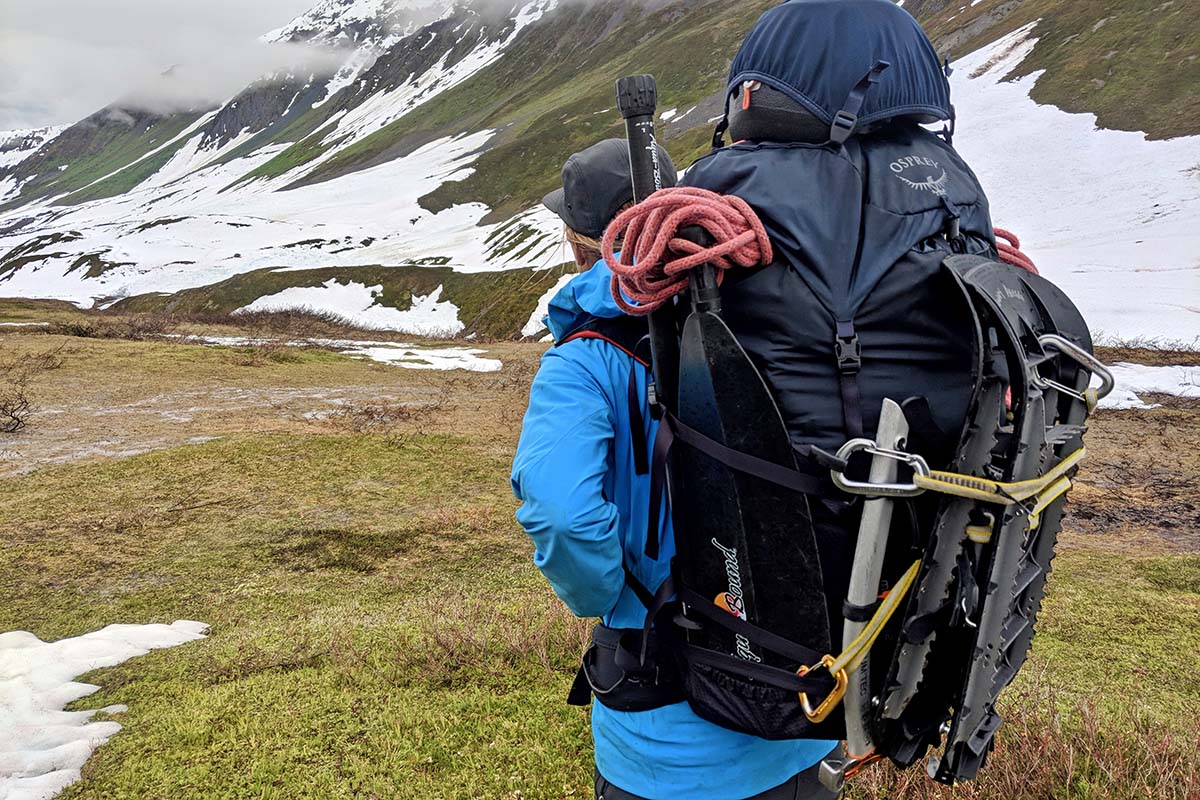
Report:
[[[617,82],[617,108],[625,119],[625,138],[629,142],[634,203],[641,203],[662,188],[662,166],[654,137],[658,102],[654,76],[629,76]],[[679,381],[679,337],[674,309],[670,305],[664,306],[653,312],[648,321],[654,361],[654,396],[650,399],[674,408]]]

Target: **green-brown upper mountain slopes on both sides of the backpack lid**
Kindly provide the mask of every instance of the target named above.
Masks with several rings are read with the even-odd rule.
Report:
[[[688,164],[707,149],[730,60],[772,5],[774,0],[685,0],[648,11],[607,2],[554,14],[529,29],[497,64],[341,151],[300,182],[371,167],[442,136],[491,128],[500,133],[475,162],[474,174],[421,201],[440,210],[478,200],[493,210],[485,222],[499,221],[552,188],[566,155],[622,134],[612,110],[613,83],[631,72],[655,74],[661,109],[682,114],[698,106],[662,130],[676,161]],[[952,59],[1040,20],[1038,46],[1016,72],[1046,71],[1034,100],[1093,112],[1102,126],[1145,130],[1156,138],[1200,132],[1200,14],[1188,12],[1187,4],[984,0],[972,6],[919,0],[910,6]],[[322,151],[301,143],[263,172]]]

